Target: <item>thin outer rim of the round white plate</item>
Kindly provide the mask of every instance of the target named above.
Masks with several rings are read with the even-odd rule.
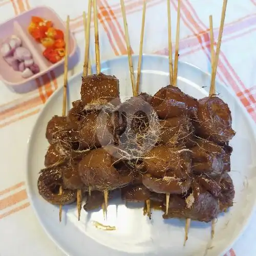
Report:
[[[139,54],[133,54],[132,55],[132,58],[137,58],[139,56]],[[152,58],[163,58],[163,59],[168,59],[168,56],[166,55],[161,55],[161,54],[142,54],[142,56],[144,57],[152,57]],[[103,65],[104,63],[106,62],[109,62],[109,61],[116,61],[117,59],[127,59],[128,58],[128,55],[120,55],[120,56],[116,56],[114,58],[111,58],[111,59],[106,59],[106,60],[103,60],[101,61],[100,63]],[[210,76],[210,73],[209,72],[205,72],[205,71],[202,71],[199,67],[189,63],[189,62],[186,62],[186,61],[178,61],[179,63],[183,63],[187,66],[190,66],[194,69],[197,69],[199,72],[201,72],[202,74],[204,75],[207,75],[207,76]],[[92,69],[95,68],[95,63],[92,64]],[[82,75],[82,72],[78,72],[74,75],[72,75],[70,78],[68,78],[68,83],[69,81],[73,80],[74,78],[76,78],[77,76],[79,75]],[[179,76],[178,76],[179,77]],[[228,88],[228,86],[226,86],[224,83],[220,82],[218,79],[216,80],[218,81],[218,83],[223,86],[223,87],[226,87]],[[47,228],[43,225],[42,221],[41,221],[41,218],[40,216],[38,215],[38,212],[37,212],[37,209],[34,205],[34,202],[32,200],[32,193],[31,193],[31,189],[30,189],[30,186],[29,186],[29,172],[28,172],[28,167],[29,167],[29,150],[30,150],[30,147],[31,147],[31,136],[32,134],[34,133],[34,130],[36,128],[36,124],[37,122],[39,121],[39,118],[42,114],[42,112],[44,111],[44,109],[46,108],[46,106],[49,104],[49,102],[51,101],[51,98],[54,97],[57,93],[59,93],[60,90],[62,90],[63,87],[59,87],[57,90],[55,90],[53,92],[53,94],[48,98],[48,100],[46,101],[46,103],[44,105],[42,105],[37,117],[36,117],[36,120],[34,121],[33,125],[32,125],[32,130],[31,130],[31,133],[28,137],[28,140],[27,140],[27,145],[26,145],[26,164],[25,164],[25,187],[26,187],[26,191],[27,191],[27,195],[28,195],[28,200],[30,202],[30,205],[32,206],[32,209],[33,209],[33,212],[36,216],[36,219],[37,221],[39,222],[40,226],[43,228],[43,230],[46,232],[47,236],[53,241],[54,245],[57,246],[65,255],[69,255],[67,251],[65,251],[65,249],[62,248],[61,244],[59,244],[55,238],[51,235],[51,233],[47,230]],[[228,88],[228,91],[229,93],[231,93],[234,98],[236,98],[236,101],[238,102],[239,106],[240,106],[240,109],[242,109],[243,111],[243,114],[245,115],[249,125],[250,125],[250,128],[251,128],[251,132],[252,134],[254,135],[254,139],[256,140],[256,131],[255,129],[253,129],[253,126],[255,127],[255,123],[253,122],[252,118],[250,117],[249,113],[246,111],[244,105],[242,104],[242,102],[238,99],[237,95],[234,93],[233,90],[230,90]],[[240,232],[238,234],[238,236],[233,239],[233,241],[231,241],[230,243],[227,244],[226,246],[226,250],[222,252],[222,254],[224,255],[226,252],[228,252],[232,246],[241,238],[241,236],[243,235],[243,233],[246,231],[246,229],[248,228],[248,225],[252,219],[252,216],[254,214],[254,212],[256,211],[256,197],[254,198],[254,202],[253,202],[253,206],[252,206],[252,210],[250,211],[249,215],[248,215],[248,218],[246,220],[246,222],[244,223],[243,227],[240,229]],[[132,254],[131,254],[132,255]]]

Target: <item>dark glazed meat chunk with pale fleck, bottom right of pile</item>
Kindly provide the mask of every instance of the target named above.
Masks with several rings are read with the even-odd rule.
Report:
[[[196,221],[209,222],[219,213],[218,200],[198,183],[193,183],[193,193],[186,199],[178,195],[170,195],[168,214],[164,219],[184,218]]]

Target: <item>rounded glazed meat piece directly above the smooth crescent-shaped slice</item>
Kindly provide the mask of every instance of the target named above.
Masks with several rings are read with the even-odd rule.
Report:
[[[182,147],[159,145],[145,156],[145,169],[157,178],[173,172],[178,178],[186,178],[191,173],[191,152]]]

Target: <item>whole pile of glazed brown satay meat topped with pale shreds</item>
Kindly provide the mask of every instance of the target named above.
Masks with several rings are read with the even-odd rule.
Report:
[[[72,105],[47,125],[38,191],[48,202],[71,204],[81,189],[89,211],[102,206],[104,191],[111,200],[119,189],[126,202],[150,199],[164,219],[203,222],[232,206],[235,132],[219,97],[197,100],[168,85],[121,103],[118,79],[100,73],[82,77],[81,99]]]

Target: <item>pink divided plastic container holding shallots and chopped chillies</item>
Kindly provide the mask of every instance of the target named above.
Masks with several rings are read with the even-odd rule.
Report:
[[[44,46],[36,42],[28,32],[32,16],[39,16],[44,19],[51,20],[54,28],[62,30],[64,34],[66,33],[66,24],[53,9],[45,6],[31,9],[1,24],[0,44],[2,45],[2,43],[11,35],[18,36],[22,39],[23,46],[31,52],[34,62],[40,69],[39,73],[29,78],[23,78],[22,72],[14,71],[13,68],[4,60],[3,56],[0,56],[0,79],[10,86],[19,86],[27,83],[50,70],[55,69],[64,62],[64,58],[62,58],[57,63],[53,64],[42,55],[42,52],[45,50]],[[75,54],[77,45],[73,34],[71,32],[69,34],[69,58],[71,58]]]

